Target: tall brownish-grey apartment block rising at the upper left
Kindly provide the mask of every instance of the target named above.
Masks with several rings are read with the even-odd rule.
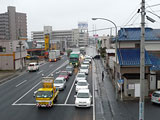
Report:
[[[8,6],[8,11],[0,14],[0,40],[26,40],[27,19],[25,13],[16,12]]]

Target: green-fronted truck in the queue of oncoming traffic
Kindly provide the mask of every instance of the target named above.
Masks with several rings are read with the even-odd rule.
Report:
[[[69,64],[78,67],[80,64],[80,52],[71,52],[69,56]]]

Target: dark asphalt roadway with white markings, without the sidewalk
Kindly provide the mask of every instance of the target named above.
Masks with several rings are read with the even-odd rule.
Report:
[[[2,120],[93,120],[93,104],[90,108],[76,108],[74,105],[75,74],[67,81],[67,87],[60,91],[58,101],[52,108],[35,106],[34,91],[41,87],[41,74],[45,76],[63,70],[68,64],[67,57],[57,62],[47,62],[37,72],[24,74],[0,85],[0,118]],[[91,69],[88,75],[92,94]],[[72,87],[73,86],[73,87]]]

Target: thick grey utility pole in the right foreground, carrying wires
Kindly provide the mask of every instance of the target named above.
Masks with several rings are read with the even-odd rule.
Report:
[[[140,48],[140,99],[139,120],[144,120],[144,82],[145,82],[145,0],[141,3],[141,48]]]

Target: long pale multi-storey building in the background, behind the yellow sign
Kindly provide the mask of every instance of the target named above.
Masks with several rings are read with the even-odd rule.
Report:
[[[52,30],[51,26],[44,26],[43,31],[32,31],[32,41],[36,41],[37,44],[42,44],[45,34],[49,34],[50,47],[54,46],[54,44],[59,44],[59,48],[56,47],[56,49],[62,51],[70,47],[81,47],[88,44],[88,33],[84,30]]]

